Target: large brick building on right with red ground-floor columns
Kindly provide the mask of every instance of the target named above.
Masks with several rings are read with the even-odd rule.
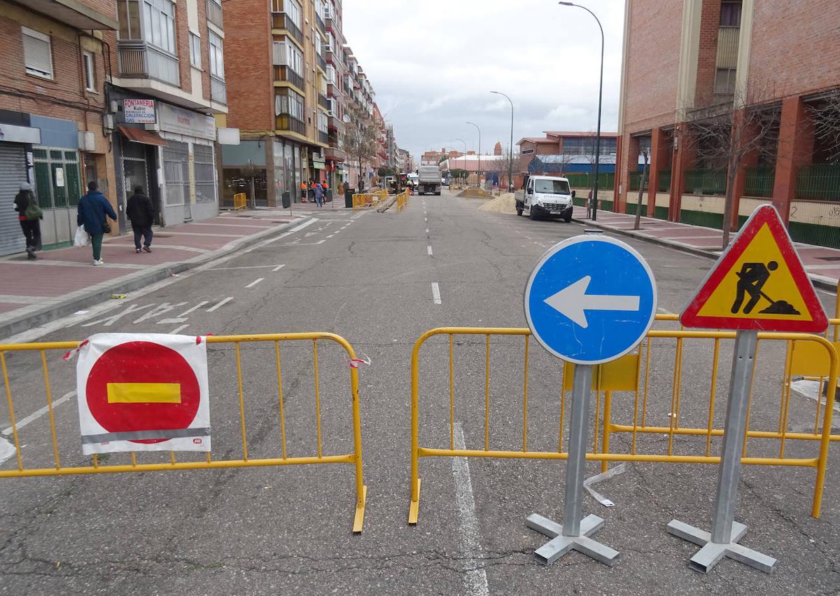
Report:
[[[616,210],[635,208],[631,165],[647,150],[646,214],[721,227],[729,172],[698,123],[759,113],[760,130],[732,135],[748,150],[727,224],[773,203],[795,240],[840,245],[840,166],[815,116],[840,92],[836,0],[627,0],[624,20]]]

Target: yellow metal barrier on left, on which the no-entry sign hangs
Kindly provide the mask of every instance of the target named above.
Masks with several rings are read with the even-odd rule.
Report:
[[[344,455],[324,455],[323,454],[323,440],[321,432],[321,388],[318,377],[318,342],[326,341],[333,344],[340,345],[346,352],[347,361],[354,361],[356,359],[353,346],[347,340],[339,335],[331,333],[286,333],[286,334],[269,334],[269,335],[208,335],[206,338],[208,345],[233,345],[236,363],[236,377],[239,398],[239,430],[242,440],[242,456],[239,459],[213,459],[210,453],[207,453],[206,459],[202,461],[177,461],[174,451],[170,451],[169,462],[157,463],[139,463],[138,455],[134,452],[130,453],[129,464],[105,464],[101,459],[93,455],[91,465],[67,467],[62,465],[59,453],[59,438],[55,429],[55,416],[53,412],[53,403],[50,384],[50,374],[47,366],[48,352],[68,351],[78,347],[79,342],[76,341],[59,341],[49,343],[33,343],[33,344],[6,344],[0,345],[0,371],[3,372],[3,388],[6,393],[6,404],[8,406],[8,416],[11,421],[13,444],[15,455],[17,456],[17,466],[13,470],[0,470],[0,478],[9,477],[34,477],[34,476],[66,476],[72,474],[106,474],[118,472],[155,472],[166,470],[197,470],[197,469],[218,469],[229,467],[265,467],[265,466],[288,466],[300,464],[324,464],[324,463],[349,463],[354,466],[355,470],[355,514],[353,522],[353,531],[360,532],[365,520],[365,499],[367,497],[367,487],[365,486],[362,476],[362,443],[361,443],[361,420],[360,420],[360,405],[359,405],[359,371],[350,367],[350,393],[352,395],[352,418],[353,418],[353,451]],[[311,342],[312,356],[307,356],[312,360],[312,370],[314,378],[314,414],[315,414],[315,435],[317,442],[317,454],[312,456],[289,456],[286,450],[286,408],[283,401],[283,382],[281,375],[281,343],[284,342]],[[267,349],[273,356],[273,368],[276,367],[276,387],[277,387],[277,405],[279,408],[279,423],[281,432],[281,456],[271,458],[250,458],[248,455],[248,433],[245,426],[245,394],[243,389],[243,361],[241,357],[241,346],[244,344],[257,344],[263,349]],[[37,352],[40,356],[40,367],[43,370],[43,377],[46,390],[46,406],[50,421],[50,440],[52,445],[53,456],[55,458],[55,467],[24,467],[24,457],[21,453],[20,437],[18,436],[18,422],[15,418],[14,402],[11,391],[11,383],[9,380],[7,358],[8,355],[18,352]],[[342,358],[344,363],[344,357]],[[76,425],[76,430],[78,426]],[[145,456],[154,457],[154,454],[149,455],[144,452]],[[105,458],[102,458],[105,459]]]

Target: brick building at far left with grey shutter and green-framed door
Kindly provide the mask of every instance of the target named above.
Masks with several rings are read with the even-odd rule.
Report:
[[[29,182],[44,209],[45,247],[68,243],[76,204],[96,180],[117,207],[108,112],[108,46],[118,28],[108,0],[0,0],[0,255],[24,251],[10,204]]]

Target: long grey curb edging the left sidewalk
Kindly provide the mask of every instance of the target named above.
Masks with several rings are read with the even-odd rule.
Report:
[[[29,313],[20,314],[13,319],[0,323],[0,339],[8,338],[12,335],[21,333],[22,331],[30,330],[33,327],[50,323],[50,321],[54,321],[55,319],[66,317],[68,314],[73,314],[76,310],[84,309],[87,306],[104,302],[105,300],[108,300],[113,293],[133,292],[134,290],[146,287],[151,283],[160,282],[160,280],[165,279],[166,277],[171,277],[177,273],[189,271],[197,266],[205,265],[210,261],[215,261],[221,256],[237,252],[244,248],[245,245],[254,241],[267,240],[272,236],[281,235],[286,228],[303,224],[307,221],[307,219],[312,218],[303,217],[296,219],[286,224],[278,225],[275,228],[259,232],[255,235],[249,235],[238,240],[233,240],[215,251],[193,257],[193,259],[189,261],[181,261],[166,266],[157,266],[150,272],[134,274],[134,277],[129,274],[128,279],[118,278],[113,280],[113,282],[110,282],[112,284],[111,287],[95,290],[83,296],[68,298],[66,301],[61,303],[51,304],[50,306],[45,306],[44,308]],[[109,282],[102,282],[102,284],[105,283]]]

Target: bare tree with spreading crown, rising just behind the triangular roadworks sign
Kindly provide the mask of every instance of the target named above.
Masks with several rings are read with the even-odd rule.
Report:
[[[775,161],[781,108],[766,102],[773,97],[763,87],[736,92],[732,103],[695,109],[687,113],[687,139],[683,142],[695,152],[696,161],[711,170],[727,172],[723,202],[722,247],[729,245],[732,229],[732,203],[735,177],[745,159],[758,152],[768,161]],[[760,90],[760,91],[759,91]]]

